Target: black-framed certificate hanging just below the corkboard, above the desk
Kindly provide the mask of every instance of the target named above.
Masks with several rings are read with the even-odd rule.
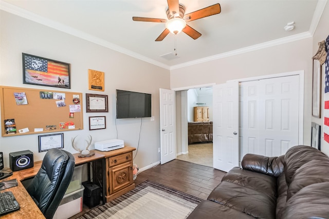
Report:
[[[63,133],[39,135],[39,152],[64,148]]]

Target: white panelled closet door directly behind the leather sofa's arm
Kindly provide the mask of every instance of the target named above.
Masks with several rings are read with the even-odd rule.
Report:
[[[240,83],[240,161],[280,156],[298,145],[299,75]]]

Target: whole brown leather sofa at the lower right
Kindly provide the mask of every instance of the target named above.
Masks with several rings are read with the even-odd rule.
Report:
[[[309,146],[246,154],[188,218],[329,218],[329,158]]]

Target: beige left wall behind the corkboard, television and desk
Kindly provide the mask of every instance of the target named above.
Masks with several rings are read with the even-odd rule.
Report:
[[[0,31],[0,85],[61,90],[22,83],[22,52],[24,52],[70,63],[71,89],[67,91],[82,92],[83,95],[85,93],[108,95],[108,113],[86,113],[84,110],[84,129],[63,132],[65,150],[76,152],[71,147],[71,138],[77,135],[77,143],[84,148],[86,146],[84,140],[88,134],[93,137],[91,148],[94,148],[94,142],[112,138],[122,139],[125,145],[137,148],[141,119],[115,121],[115,91],[123,89],[152,94],[152,115],[155,116],[155,121],[151,122],[150,118],[142,119],[140,145],[134,162],[139,167],[145,167],[160,160],[158,153],[158,147],[160,147],[159,88],[170,88],[169,70],[4,11],[1,11]],[[88,69],[105,72],[104,92],[88,90]],[[85,100],[84,96],[83,100]],[[67,100],[67,102],[69,101]],[[97,115],[106,116],[106,129],[89,131],[88,117]],[[38,120],[36,114],[27,116],[33,116],[35,120]],[[16,125],[17,129],[22,128],[19,127],[19,124]],[[0,137],[0,151],[4,152],[5,166],[9,167],[8,153],[14,151],[31,150],[34,153],[35,161],[42,160],[45,152],[39,153],[38,135],[40,134]]]

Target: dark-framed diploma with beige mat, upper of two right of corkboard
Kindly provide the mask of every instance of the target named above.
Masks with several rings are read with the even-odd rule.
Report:
[[[86,93],[87,112],[108,112],[107,95]]]

